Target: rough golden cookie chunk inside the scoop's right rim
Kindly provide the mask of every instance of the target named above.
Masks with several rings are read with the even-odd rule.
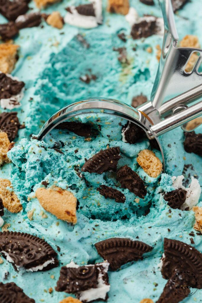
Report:
[[[150,177],[157,178],[160,175],[163,165],[153,151],[143,149],[137,156],[137,163],[144,169]]]

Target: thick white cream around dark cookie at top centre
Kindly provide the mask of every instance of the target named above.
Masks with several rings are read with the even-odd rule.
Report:
[[[67,12],[64,18],[65,23],[81,28],[94,28],[102,23],[102,2],[101,0],[92,0],[94,16],[85,16],[77,12],[74,5],[70,6],[71,13]]]

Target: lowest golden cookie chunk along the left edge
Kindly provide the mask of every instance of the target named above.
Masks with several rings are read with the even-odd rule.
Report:
[[[8,179],[0,178],[0,198],[2,199],[3,205],[10,212],[20,212],[22,210],[22,205],[15,195],[14,191],[7,189],[10,187],[12,189],[11,182]]]

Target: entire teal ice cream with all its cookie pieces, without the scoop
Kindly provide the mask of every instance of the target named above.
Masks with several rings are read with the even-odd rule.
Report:
[[[197,0],[172,5],[200,48]],[[149,100],[163,32],[157,0],[0,0],[0,302],[200,302],[201,118],[160,137],[164,171],[103,109],[37,135],[75,100]]]

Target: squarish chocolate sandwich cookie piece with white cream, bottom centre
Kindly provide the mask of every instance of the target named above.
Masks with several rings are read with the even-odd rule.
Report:
[[[71,261],[63,266],[56,291],[75,294],[82,302],[105,301],[108,298],[108,262],[79,266]]]

